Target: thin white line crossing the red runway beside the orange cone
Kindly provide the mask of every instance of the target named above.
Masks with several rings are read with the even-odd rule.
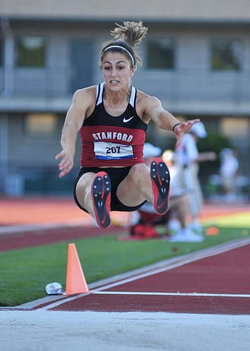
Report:
[[[103,295],[162,295],[162,296],[215,296],[215,297],[250,297],[250,294],[216,294],[206,292],[92,292]]]

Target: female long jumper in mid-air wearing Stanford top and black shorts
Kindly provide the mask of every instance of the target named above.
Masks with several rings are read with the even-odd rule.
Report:
[[[136,67],[142,63],[136,48],[146,32],[142,22],[117,25],[111,32],[114,39],[101,47],[99,65],[104,82],[75,92],[62,129],[62,151],[56,155],[61,158],[59,177],[73,167],[80,132],[81,168],[74,198],[99,228],[109,227],[110,211],[135,211],[145,201],[153,202],[159,215],[167,212],[167,166],[154,158],[149,170],[143,161],[147,125],[152,119],[159,128],[173,130],[179,145],[199,121],[179,122],[157,98],[131,86]]]

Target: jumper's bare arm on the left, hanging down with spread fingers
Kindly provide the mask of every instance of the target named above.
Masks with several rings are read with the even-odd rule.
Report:
[[[59,177],[68,174],[74,165],[74,155],[76,148],[77,133],[80,130],[87,109],[93,103],[93,98],[87,89],[77,90],[73,96],[72,104],[67,112],[61,133],[62,151],[56,155],[56,159],[61,158],[58,165]]]

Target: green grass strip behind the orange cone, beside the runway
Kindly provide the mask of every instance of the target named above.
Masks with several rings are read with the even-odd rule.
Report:
[[[220,228],[219,235],[206,236],[202,243],[173,244],[157,239],[117,241],[116,235],[70,242],[76,244],[89,284],[165,258],[249,235],[250,229],[246,228]],[[68,243],[0,253],[0,306],[17,306],[46,296],[45,286],[55,281],[65,289]],[[173,251],[173,246],[178,247],[178,251]]]

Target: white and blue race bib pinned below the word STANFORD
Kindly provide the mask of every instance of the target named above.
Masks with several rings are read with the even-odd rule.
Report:
[[[116,144],[109,141],[94,141],[94,152],[98,159],[132,158],[132,145]]]

